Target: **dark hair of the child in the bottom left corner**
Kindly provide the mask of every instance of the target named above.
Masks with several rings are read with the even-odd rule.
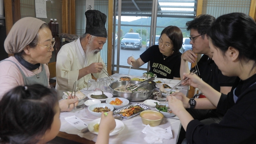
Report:
[[[0,143],[35,144],[51,128],[58,104],[55,89],[17,86],[0,101]]]

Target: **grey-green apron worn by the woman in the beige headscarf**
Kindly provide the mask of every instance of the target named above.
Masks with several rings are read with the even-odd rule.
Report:
[[[10,61],[14,64],[16,64],[15,62],[11,61],[11,60],[2,60],[0,62],[3,62],[3,61]],[[41,64],[42,65],[42,71],[40,73],[38,73],[37,75],[40,76],[39,79],[37,79],[37,75],[33,75],[33,76],[26,76],[22,69],[20,69],[20,67],[18,66],[18,64],[16,64],[16,66],[19,68],[19,71],[20,73],[22,74],[22,77],[23,77],[23,80],[24,80],[24,85],[32,85],[32,84],[41,84],[45,87],[48,87],[48,78],[47,78],[47,75],[46,75],[46,72],[45,72],[45,68],[44,68],[44,64]]]

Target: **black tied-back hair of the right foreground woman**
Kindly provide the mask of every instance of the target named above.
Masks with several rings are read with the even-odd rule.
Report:
[[[239,51],[240,61],[256,61],[256,23],[250,16],[237,12],[224,14],[212,23],[207,35],[223,55],[233,47]]]

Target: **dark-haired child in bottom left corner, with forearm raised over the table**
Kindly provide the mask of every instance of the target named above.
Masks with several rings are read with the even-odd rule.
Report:
[[[0,101],[0,144],[45,144],[60,130],[57,91],[41,84],[17,86]],[[101,114],[96,144],[108,144],[116,127],[113,112]]]

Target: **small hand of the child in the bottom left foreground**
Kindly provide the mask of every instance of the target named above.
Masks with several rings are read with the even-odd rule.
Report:
[[[109,111],[108,115],[105,116],[103,112],[101,112],[101,122],[99,131],[108,131],[110,133],[116,127],[116,121],[113,117],[113,111]]]

